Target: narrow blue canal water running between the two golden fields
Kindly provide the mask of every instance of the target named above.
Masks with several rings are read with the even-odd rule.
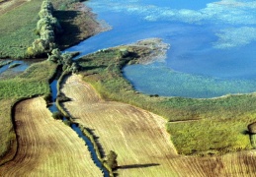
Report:
[[[56,97],[57,97],[57,80],[53,80],[50,84],[50,89],[51,89],[51,105],[48,107],[48,109],[50,110],[50,112],[56,112],[58,111],[55,101],[56,101]],[[67,118],[63,117],[62,121],[65,122],[67,121]],[[102,161],[98,158],[96,150],[93,146],[93,143],[90,141],[89,138],[87,138],[82,130],[80,129],[80,127],[78,126],[78,124],[75,123],[71,123],[70,124],[70,128],[72,128],[73,131],[76,132],[76,134],[85,142],[85,145],[87,146],[88,150],[90,151],[91,154],[91,158],[93,160],[93,162],[95,163],[95,165],[97,167],[100,168],[100,170],[103,172],[103,176],[104,177],[109,177],[109,171],[104,167]]]

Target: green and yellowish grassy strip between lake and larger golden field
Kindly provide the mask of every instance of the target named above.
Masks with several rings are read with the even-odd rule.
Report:
[[[247,125],[255,121],[256,94],[213,99],[157,97],[134,91],[122,68],[147,55],[149,48],[122,46],[78,60],[83,79],[102,97],[127,102],[168,120],[167,130],[181,154],[213,154],[252,148]]]

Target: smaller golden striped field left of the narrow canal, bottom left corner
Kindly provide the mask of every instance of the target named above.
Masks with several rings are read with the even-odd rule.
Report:
[[[42,97],[15,107],[18,151],[0,166],[0,176],[102,176],[84,142],[51,118]]]

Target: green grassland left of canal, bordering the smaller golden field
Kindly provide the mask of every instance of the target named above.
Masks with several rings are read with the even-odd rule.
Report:
[[[52,62],[41,62],[32,65],[23,74],[14,79],[0,81],[0,157],[7,161],[15,154],[16,137],[12,123],[12,107],[23,98],[50,93],[48,86],[56,70]],[[4,161],[0,160],[0,164]]]

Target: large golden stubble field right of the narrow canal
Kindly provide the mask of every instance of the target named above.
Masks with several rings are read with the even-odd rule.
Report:
[[[77,75],[61,91],[72,101],[64,107],[76,121],[93,130],[105,152],[118,154],[120,176],[254,176],[256,152],[188,157],[176,153],[165,120],[140,108],[103,100]]]

